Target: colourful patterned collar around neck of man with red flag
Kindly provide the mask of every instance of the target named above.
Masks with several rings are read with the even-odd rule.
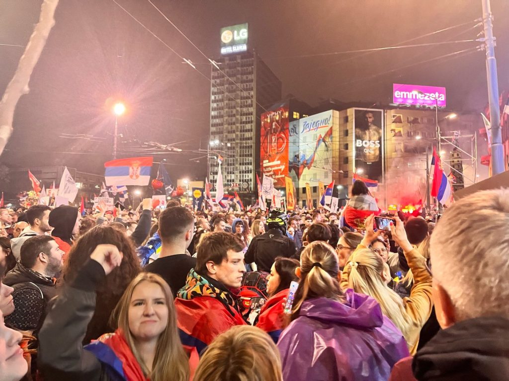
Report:
[[[218,283],[218,281],[207,279],[191,269],[187,274],[186,285],[177,292],[177,297],[185,300],[202,296],[215,298],[228,309],[232,316],[235,316],[236,313],[233,310],[238,311],[236,300],[230,292],[222,290]]]

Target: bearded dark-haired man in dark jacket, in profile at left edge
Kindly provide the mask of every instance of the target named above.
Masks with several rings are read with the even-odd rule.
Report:
[[[14,288],[14,312],[6,324],[37,332],[44,321],[46,305],[56,295],[55,274],[62,270],[64,251],[51,236],[35,236],[21,246],[21,258],[4,278]]]

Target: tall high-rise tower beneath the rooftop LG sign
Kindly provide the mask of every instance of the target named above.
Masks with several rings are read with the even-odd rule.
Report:
[[[223,157],[224,192],[252,193],[260,167],[260,115],[281,99],[281,81],[254,50],[223,55],[212,66],[209,178]]]

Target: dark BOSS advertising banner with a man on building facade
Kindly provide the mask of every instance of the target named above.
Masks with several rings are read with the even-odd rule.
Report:
[[[383,177],[383,110],[354,110],[355,173],[381,182]]]

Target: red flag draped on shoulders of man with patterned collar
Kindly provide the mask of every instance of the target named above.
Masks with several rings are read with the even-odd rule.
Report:
[[[239,312],[231,308],[235,313],[232,316],[219,300],[209,296],[190,300],[176,298],[175,308],[182,344],[195,347],[200,354],[219,334],[246,324]]]

